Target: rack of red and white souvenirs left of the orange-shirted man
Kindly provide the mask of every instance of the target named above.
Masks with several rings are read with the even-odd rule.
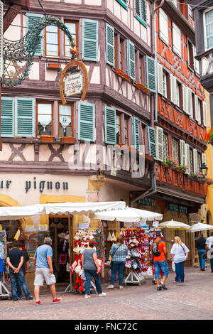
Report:
[[[145,230],[133,227],[129,229],[121,229],[121,236],[124,238],[124,244],[129,249],[126,258],[126,269],[129,274],[126,276],[125,284],[137,283],[143,281],[143,271],[147,270],[145,262],[146,252],[144,248],[146,233]]]

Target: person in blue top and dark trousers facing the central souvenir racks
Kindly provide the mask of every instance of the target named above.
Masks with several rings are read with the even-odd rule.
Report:
[[[123,289],[124,269],[126,264],[126,256],[128,248],[124,244],[124,239],[118,237],[116,243],[111,246],[109,255],[111,256],[111,284],[107,289],[114,289],[114,282],[116,280],[116,273],[119,274],[119,289]]]

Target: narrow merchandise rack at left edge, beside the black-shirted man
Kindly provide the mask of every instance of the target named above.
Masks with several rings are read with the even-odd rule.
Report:
[[[10,298],[9,290],[6,288],[5,272],[6,272],[6,231],[0,231],[0,296],[7,296]]]

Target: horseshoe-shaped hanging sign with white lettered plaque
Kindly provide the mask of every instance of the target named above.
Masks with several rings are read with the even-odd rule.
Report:
[[[62,71],[60,77],[60,98],[67,104],[65,97],[82,94],[84,100],[88,90],[88,73],[85,65],[79,60],[72,60]]]

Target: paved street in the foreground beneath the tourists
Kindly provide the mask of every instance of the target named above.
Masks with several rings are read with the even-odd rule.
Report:
[[[169,274],[168,290],[157,291],[152,279],[141,286],[124,286],[106,290],[107,296],[91,298],[77,293],[63,293],[62,302],[54,304],[45,289],[35,300],[0,300],[0,320],[212,320],[213,273],[199,268],[185,268],[185,283],[174,284],[175,273]],[[33,292],[32,292],[33,296]]]

